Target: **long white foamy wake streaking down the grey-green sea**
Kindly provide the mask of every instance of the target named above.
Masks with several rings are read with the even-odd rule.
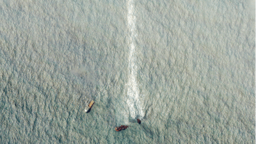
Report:
[[[134,6],[133,1],[128,0],[127,3],[128,6],[128,14],[127,14],[127,20],[128,20],[128,28],[129,28],[129,81],[127,84],[128,90],[127,90],[127,104],[129,106],[130,115],[132,118],[143,118],[144,111],[141,106],[140,97],[139,97],[139,89],[137,86],[137,66],[136,66],[136,16],[134,14]]]

